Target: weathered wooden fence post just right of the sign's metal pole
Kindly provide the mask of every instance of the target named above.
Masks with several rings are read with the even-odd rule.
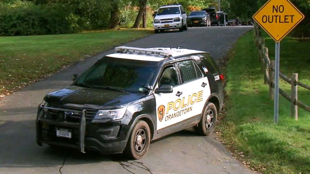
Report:
[[[298,86],[296,82],[298,81],[298,74],[292,73],[292,84],[291,84],[291,116],[298,120],[298,106],[295,105],[295,100],[298,100]]]

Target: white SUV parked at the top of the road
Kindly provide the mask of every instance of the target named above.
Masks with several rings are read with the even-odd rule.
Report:
[[[187,30],[186,17],[180,4],[160,7],[153,21],[155,33],[169,29]]]

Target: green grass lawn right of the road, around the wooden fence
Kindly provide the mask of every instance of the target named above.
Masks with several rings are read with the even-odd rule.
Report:
[[[269,56],[274,59],[275,42],[263,32]],[[280,70],[310,84],[310,40],[286,37],[281,42]],[[290,117],[290,103],[281,95],[279,123],[273,123],[273,102],[257,61],[253,32],[242,36],[232,49],[226,70],[226,115],[219,125],[221,136],[236,154],[263,169],[263,173],[310,173],[310,113],[298,109],[299,120]],[[283,80],[280,88],[290,94]],[[310,105],[310,90],[298,87],[298,99]],[[244,155],[244,157],[243,157]]]

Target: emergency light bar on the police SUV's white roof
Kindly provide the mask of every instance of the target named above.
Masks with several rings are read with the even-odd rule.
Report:
[[[116,47],[115,51],[155,54],[155,55],[161,55],[161,56],[170,56],[173,53],[173,51],[169,51],[169,50],[155,50],[155,49],[137,48],[137,47],[129,47],[129,46]]]

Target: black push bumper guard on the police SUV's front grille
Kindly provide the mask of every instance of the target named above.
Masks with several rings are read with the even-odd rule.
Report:
[[[57,110],[57,111],[63,111],[63,112],[72,112],[69,109],[58,109],[58,108],[51,108],[51,107],[44,107],[42,104],[39,105],[38,113],[37,113],[37,120],[36,120],[36,134],[37,134],[37,144],[39,146],[42,146],[42,143],[48,143],[52,145],[61,145],[64,147],[73,147],[79,149],[82,153],[85,153],[85,130],[86,130],[86,116],[87,112],[85,109],[75,113],[80,114],[80,122],[79,123],[73,123],[73,122],[64,122],[64,121],[55,121],[55,120],[49,120],[49,119],[42,119],[43,109],[48,110]],[[42,113],[41,113],[42,112]],[[50,142],[42,140],[42,125],[41,123],[47,123],[51,125],[56,126],[65,126],[69,128],[78,128],[79,132],[79,138],[78,138],[78,145],[69,144],[69,143],[58,143],[58,142]]]

